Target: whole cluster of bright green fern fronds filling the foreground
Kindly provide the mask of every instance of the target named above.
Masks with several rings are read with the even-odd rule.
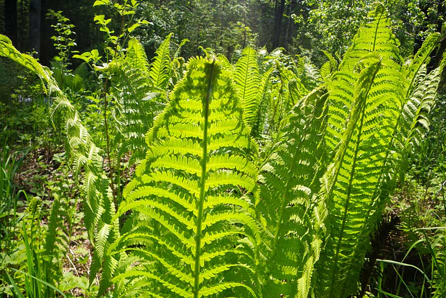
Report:
[[[38,73],[65,112],[100,295],[112,284],[116,297],[355,295],[370,233],[429,128],[440,37],[404,62],[375,3],[340,63],[325,53],[320,70],[280,49],[184,62],[170,38],[152,63],[137,40],[111,63],[115,145],[138,163],[114,206],[80,115],[1,37],[0,54]]]

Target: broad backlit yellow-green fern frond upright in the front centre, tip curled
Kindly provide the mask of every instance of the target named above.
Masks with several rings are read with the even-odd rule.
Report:
[[[124,190],[117,215],[132,212],[109,253],[132,265],[113,282],[132,297],[257,297],[256,143],[219,61],[187,69]]]

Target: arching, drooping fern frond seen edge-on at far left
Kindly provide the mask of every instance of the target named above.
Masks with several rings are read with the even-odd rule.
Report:
[[[85,224],[88,230],[89,238],[95,246],[94,263],[90,275],[90,282],[95,277],[102,263],[97,251],[103,250],[107,242],[119,236],[118,221],[113,220],[114,205],[109,186],[109,180],[102,168],[102,157],[99,155],[100,149],[93,143],[87,129],[83,126],[78,112],[68,101],[65,94],[59,89],[55,79],[51,76],[48,68],[43,67],[34,58],[29,55],[21,54],[11,44],[10,40],[0,35],[0,55],[9,58],[20,65],[36,73],[46,84],[49,95],[54,99],[51,107],[51,116],[56,111],[63,111],[66,126],[65,133],[72,157],[72,167],[76,175],[82,174],[82,181],[85,187],[86,198],[84,200]],[[111,232],[105,242],[97,243],[95,235],[101,225],[111,225]],[[110,271],[107,267],[105,271]],[[103,279],[107,275],[103,275]],[[109,283],[106,281],[104,287],[100,289],[105,291]]]

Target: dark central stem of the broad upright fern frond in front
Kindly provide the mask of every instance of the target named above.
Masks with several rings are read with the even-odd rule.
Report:
[[[212,79],[214,76],[215,60],[210,65],[208,89],[203,103],[204,127],[203,127],[203,157],[201,159],[200,200],[198,201],[197,232],[195,234],[195,268],[194,268],[194,298],[199,298],[200,292],[200,255],[201,255],[201,226],[203,222],[203,204],[205,199],[206,165],[208,159],[208,125],[209,102],[212,94]]]

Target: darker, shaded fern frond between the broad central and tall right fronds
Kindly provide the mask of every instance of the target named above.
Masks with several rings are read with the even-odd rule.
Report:
[[[293,108],[275,153],[262,167],[257,207],[266,222],[264,297],[305,298],[310,291],[322,245],[316,194],[325,168],[326,100],[320,88]]]

